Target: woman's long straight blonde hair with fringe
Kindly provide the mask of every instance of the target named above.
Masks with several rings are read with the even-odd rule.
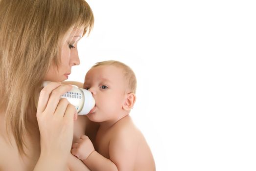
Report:
[[[60,64],[61,46],[73,29],[84,28],[84,36],[93,22],[85,0],[0,0],[0,109],[20,154],[27,113],[36,113],[34,95],[50,64]]]

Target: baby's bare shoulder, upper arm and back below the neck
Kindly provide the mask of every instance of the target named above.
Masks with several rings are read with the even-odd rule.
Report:
[[[129,117],[118,122],[113,127],[109,144],[110,159],[118,166],[118,170],[152,171],[148,168],[154,168],[154,160],[140,130]]]

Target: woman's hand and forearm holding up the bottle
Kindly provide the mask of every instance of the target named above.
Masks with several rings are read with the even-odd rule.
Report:
[[[36,116],[40,130],[41,154],[37,166],[47,165],[45,167],[50,170],[64,170],[70,154],[77,111],[67,99],[60,97],[71,88],[71,85],[51,82],[40,92]]]

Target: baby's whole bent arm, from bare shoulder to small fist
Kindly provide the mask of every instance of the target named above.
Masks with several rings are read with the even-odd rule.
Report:
[[[72,147],[72,154],[81,159],[92,171],[133,171],[139,142],[129,132],[116,134],[109,145],[109,157],[105,158],[94,150],[90,139],[83,135]]]

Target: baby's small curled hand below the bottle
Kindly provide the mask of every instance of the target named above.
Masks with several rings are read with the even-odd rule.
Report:
[[[71,153],[80,160],[86,160],[94,151],[93,143],[86,135],[82,135],[80,139],[72,145]]]

